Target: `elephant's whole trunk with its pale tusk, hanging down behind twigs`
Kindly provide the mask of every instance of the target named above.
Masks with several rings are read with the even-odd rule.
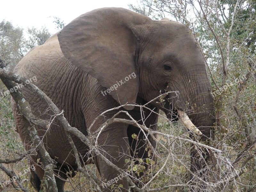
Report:
[[[203,72],[202,72],[203,73]],[[173,108],[176,108],[180,117],[180,120],[190,119],[187,121],[190,124],[190,127],[196,126],[196,131],[202,133],[200,135],[200,140],[207,141],[209,144],[210,139],[212,138],[212,125],[215,121],[215,111],[213,106],[213,99],[210,93],[210,83],[208,77],[205,75],[193,76],[190,78],[190,75],[186,76],[187,79],[184,79],[184,82],[189,82],[187,84],[179,84],[179,87],[174,87],[176,85],[171,85],[169,87],[174,87],[171,91],[179,91],[178,96],[175,93],[169,94]],[[191,79],[191,80],[189,80]],[[186,105],[187,104],[187,105]],[[185,114],[188,114],[187,116]],[[190,123],[191,122],[191,123]],[[189,128],[189,125],[183,124]],[[195,128],[194,128],[195,130]],[[193,138],[193,134],[190,134],[190,137]],[[203,177],[205,179],[204,168],[206,167],[207,160],[209,159],[209,153],[207,150],[200,150],[194,144],[191,145],[191,172],[189,180],[192,185],[196,183],[201,183],[202,181],[196,179],[195,175],[198,177]],[[202,154],[202,155],[201,155]],[[202,183],[201,183],[202,184]],[[199,184],[199,188],[204,188]],[[193,191],[193,189],[192,189]]]

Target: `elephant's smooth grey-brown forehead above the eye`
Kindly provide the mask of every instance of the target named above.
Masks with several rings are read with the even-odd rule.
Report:
[[[152,30],[147,56],[156,60],[173,60],[184,64],[204,64],[195,36],[187,26],[168,20],[159,22],[155,27]]]

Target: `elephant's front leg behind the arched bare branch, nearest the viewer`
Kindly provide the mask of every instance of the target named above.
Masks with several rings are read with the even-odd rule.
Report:
[[[129,141],[127,138],[127,125],[125,124],[112,124],[107,130],[100,133],[98,139],[98,149],[101,154],[108,158],[113,164],[127,170],[125,159],[130,158]],[[128,181],[123,177],[123,173],[116,171],[112,166],[102,160],[99,156],[95,156],[95,164],[103,183],[101,187],[103,191],[114,191],[120,184],[123,187],[119,191],[127,191]],[[114,188],[111,189],[111,186]],[[117,188],[116,188],[117,189]]]

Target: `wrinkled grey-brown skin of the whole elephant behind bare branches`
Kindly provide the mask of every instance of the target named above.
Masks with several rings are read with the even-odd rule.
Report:
[[[45,44],[32,49],[16,66],[15,73],[28,79],[36,76],[38,86],[45,92],[60,110],[69,124],[87,135],[87,128],[100,113],[120,104],[145,104],[163,93],[168,85],[169,91],[178,91],[179,97],[170,99],[163,109],[156,102],[148,104],[155,112],[163,109],[167,117],[177,114],[176,108],[187,112],[192,122],[204,134],[201,139],[211,137],[214,123],[214,108],[210,95],[210,83],[207,76],[203,55],[196,45],[196,40],[189,29],[170,20],[153,21],[150,18],[123,8],[102,8],[81,15],[69,23],[58,34],[49,38]],[[116,84],[130,78],[106,96],[106,91]],[[24,88],[24,87],[23,87]],[[42,119],[51,119],[53,113],[43,101],[26,89],[24,94],[35,115]],[[166,99],[172,98],[169,94]],[[186,103],[189,102],[189,105]],[[196,104],[196,107],[195,107]],[[193,107],[191,107],[193,106]],[[140,108],[126,106],[134,119],[142,123]],[[118,110],[101,117],[92,127],[95,131]],[[156,129],[157,116],[144,110],[146,126]],[[18,109],[13,104],[17,130],[26,149],[30,148],[28,137]],[[120,118],[127,118],[119,115]],[[39,136],[45,130],[38,130]],[[134,155],[135,143],[131,135],[139,135],[137,156],[146,158],[143,136],[139,129],[126,124],[112,124],[99,137],[98,144],[106,155],[118,167],[127,169],[125,159]],[[76,137],[72,137],[80,153],[81,161],[95,163],[100,176],[111,180],[119,175],[99,157],[90,155],[89,148]],[[150,138],[149,138],[150,139]],[[50,156],[55,159],[60,177],[66,179],[68,170],[76,170],[76,160],[63,129],[55,121],[43,138]],[[155,143],[152,141],[153,145]],[[131,148],[130,148],[131,147]],[[194,159],[192,151],[191,170],[201,169],[202,165]],[[111,156],[111,157],[110,157]],[[31,157],[31,164],[37,156]],[[63,172],[63,173],[62,173]],[[200,175],[200,174],[199,174]],[[32,184],[40,189],[40,180],[44,172],[39,166],[32,172]],[[58,191],[64,191],[64,181],[56,178]],[[127,180],[119,180],[117,185],[128,188]],[[105,188],[111,191],[111,188]]]

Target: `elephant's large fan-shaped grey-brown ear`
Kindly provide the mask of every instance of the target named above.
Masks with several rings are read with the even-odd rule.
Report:
[[[121,105],[134,104],[139,74],[134,65],[137,38],[131,28],[149,20],[123,8],[93,10],[58,33],[60,48],[68,60],[109,89],[109,94]]]

